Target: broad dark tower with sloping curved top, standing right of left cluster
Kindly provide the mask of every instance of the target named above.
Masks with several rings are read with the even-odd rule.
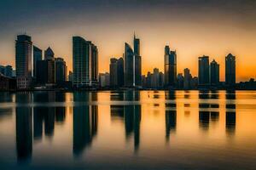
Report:
[[[73,37],[73,86],[90,87],[97,84],[98,50],[83,37]]]

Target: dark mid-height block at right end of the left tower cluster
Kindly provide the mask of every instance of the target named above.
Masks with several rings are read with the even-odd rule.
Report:
[[[64,59],[55,59],[55,82],[63,83],[67,81],[67,65]]]

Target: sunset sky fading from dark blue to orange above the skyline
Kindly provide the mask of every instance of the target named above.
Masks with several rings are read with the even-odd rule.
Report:
[[[143,74],[163,71],[164,48],[177,50],[177,72],[197,76],[197,59],[206,54],[220,63],[236,55],[237,81],[255,77],[256,1],[254,0],[1,0],[0,64],[15,66],[15,37],[32,36],[39,48],[53,48],[72,70],[72,37],[99,48],[99,71],[122,56],[133,32],[141,39]]]

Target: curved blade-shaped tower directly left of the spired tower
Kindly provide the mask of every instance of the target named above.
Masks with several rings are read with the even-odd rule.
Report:
[[[125,87],[135,86],[134,53],[131,46],[125,42]]]

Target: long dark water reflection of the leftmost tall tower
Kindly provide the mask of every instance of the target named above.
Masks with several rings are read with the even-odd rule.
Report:
[[[16,151],[18,162],[32,158],[32,108],[26,104],[32,102],[32,94],[16,94]]]

